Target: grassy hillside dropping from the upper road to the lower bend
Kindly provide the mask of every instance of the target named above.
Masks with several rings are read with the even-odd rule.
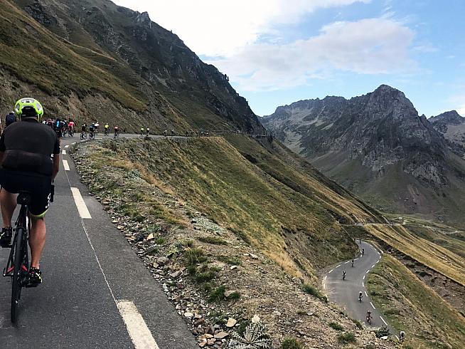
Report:
[[[141,169],[296,276],[353,256],[357,247],[336,218],[375,214],[336,184],[342,195],[327,187],[311,166],[290,165],[248,137],[234,143],[244,156],[220,137],[106,141],[95,156]]]

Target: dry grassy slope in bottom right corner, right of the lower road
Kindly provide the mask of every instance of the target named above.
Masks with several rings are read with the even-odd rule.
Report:
[[[390,324],[405,330],[407,348],[463,348],[463,316],[392,256],[368,275],[368,290]]]

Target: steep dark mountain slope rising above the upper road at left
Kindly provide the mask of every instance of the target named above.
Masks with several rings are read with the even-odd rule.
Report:
[[[2,105],[31,93],[52,117],[128,129],[262,130],[225,75],[147,14],[107,0],[1,4]]]

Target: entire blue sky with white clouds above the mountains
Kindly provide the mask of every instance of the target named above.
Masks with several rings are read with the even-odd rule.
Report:
[[[115,0],[173,30],[257,115],[380,84],[465,116],[464,0]]]

